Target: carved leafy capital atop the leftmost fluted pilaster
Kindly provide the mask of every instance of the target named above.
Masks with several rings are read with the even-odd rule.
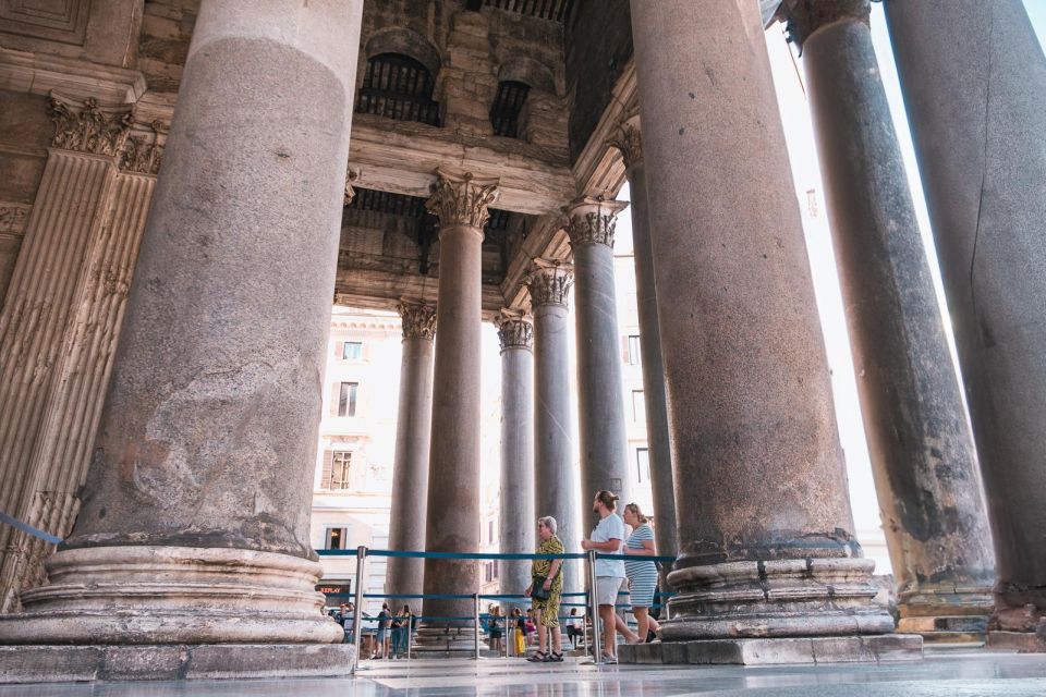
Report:
[[[63,150],[118,156],[131,133],[130,106],[101,106],[97,99],[77,105],[51,93],[48,108],[54,122],[51,145]]]

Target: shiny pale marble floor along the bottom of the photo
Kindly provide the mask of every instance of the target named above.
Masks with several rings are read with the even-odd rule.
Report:
[[[0,697],[1007,697],[1046,696],[1046,655],[927,650],[920,663],[795,667],[367,661],[354,678],[0,685]]]

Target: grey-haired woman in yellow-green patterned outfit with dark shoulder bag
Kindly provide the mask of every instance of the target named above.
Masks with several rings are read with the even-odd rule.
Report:
[[[556,518],[550,515],[538,518],[537,537],[540,543],[536,554],[562,554],[563,543],[556,537]],[[559,634],[559,602],[563,592],[563,560],[535,559],[531,562],[531,585],[523,595],[531,598],[534,619],[537,623],[537,652],[528,661],[561,663],[563,661],[562,639]],[[546,595],[547,594],[547,595]],[[551,634],[552,646],[546,639]]]

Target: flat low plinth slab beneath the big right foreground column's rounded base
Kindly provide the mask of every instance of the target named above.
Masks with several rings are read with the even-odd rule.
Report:
[[[660,641],[618,647],[621,663],[778,665],[782,663],[886,663],[920,661],[917,634],[810,638]]]

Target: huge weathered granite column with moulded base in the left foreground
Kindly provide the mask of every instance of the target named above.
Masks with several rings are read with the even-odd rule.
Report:
[[[340,640],[308,524],[361,10],[202,4],[83,506],[3,641]]]

